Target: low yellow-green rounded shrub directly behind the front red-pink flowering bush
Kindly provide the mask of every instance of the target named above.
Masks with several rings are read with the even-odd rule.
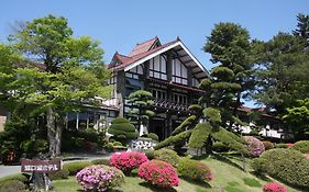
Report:
[[[179,156],[176,151],[167,148],[162,148],[154,151],[154,158],[158,160],[164,160],[172,163],[172,166],[177,167],[179,162]]]

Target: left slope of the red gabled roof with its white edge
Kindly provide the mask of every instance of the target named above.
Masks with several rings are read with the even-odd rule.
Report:
[[[113,59],[114,58],[118,59],[118,61],[120,61],[120,65],[114,66],[114,64],[112,63],[112,64],[110,64],[108,66],[108,68],[109,69],[112,68],[113,70],[121,70],[121,69],[125,68],[126,66],[129,66],[130,64],[132,64],[134,61],[137,61],[137,60],[140,60],[140,59],[142,59],[142,58],[144,58],[144,57],[146,57],[146,56],[148,56],[148,55],[151,55],[151,54],[153,54],[153,53],[155,53],[157,50],[161,50],[161,49],[163,49],[163,48],[165,48],[165,47],[167,47],[167,46],[169,46],[169,45],[172,45],[172,44],[174,44],[174,43],[176,43],[178,41],[180,41],[180,39],[176,39],[176,41],[166,43],[166,44],[164,44],[162,46],[155,47],[153,49],[150,49],[147,52],[141,53],[139,55],[134,55],[132,57],[120,55],[120,54],[115,53],[114,56],[113,56]]]

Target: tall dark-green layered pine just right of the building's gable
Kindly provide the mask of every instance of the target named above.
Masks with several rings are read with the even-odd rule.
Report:
[[[212,79],[203,82],[211,90],[203,100],[207,106],[219,108],[223,126],[227,122],[240,123],[236,110],[242,105],[241,99],[247,98],[254,89],[251,48],[249,32],[234,23],[216,24],[203,46],[203,50],[211,54],[211,61],[217,64],[211,69]]]

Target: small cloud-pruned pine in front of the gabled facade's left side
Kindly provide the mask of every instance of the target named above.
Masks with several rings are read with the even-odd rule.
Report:
[[[132,92],[129,95],[129,103],[132,104],[129,113],[139,122],[140,135],[144,134],[143,132],[147,133],[150,118],[155,115],[151,110],[151,106],[154,104],[152,93],[145,90]]]

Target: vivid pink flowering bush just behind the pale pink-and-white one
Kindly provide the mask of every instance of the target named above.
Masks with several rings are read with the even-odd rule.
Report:
[[[148,158],[142,153],[114,153],[110,158],[110,165],[122,170],[125,174],[130,174],[133,169],[146,161]]]

